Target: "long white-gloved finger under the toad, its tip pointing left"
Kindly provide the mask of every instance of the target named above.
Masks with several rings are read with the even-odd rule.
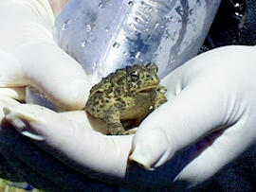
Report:
[[[131,135],[106,136],[87,129],[88,121],[83,125],[38,106],[6,107],[4,112],[17,131],[36,140],[45,140],[47,145],[85,167],[85,172],[87,169],[124,177]]]

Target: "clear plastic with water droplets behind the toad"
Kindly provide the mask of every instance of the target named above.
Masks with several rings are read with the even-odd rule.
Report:
[[[221,0],[72,0],[57,17],[58,44],[99,81],[154,61],[160,78],[194,57]]]

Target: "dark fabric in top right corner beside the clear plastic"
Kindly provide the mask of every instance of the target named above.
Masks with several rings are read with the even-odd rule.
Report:
[[[255,0],[222,0],[200,53],[230,44],[255,45],[255,30]]]

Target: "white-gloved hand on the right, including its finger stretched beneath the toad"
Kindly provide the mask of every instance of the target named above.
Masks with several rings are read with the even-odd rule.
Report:
[[[118,176],[137,187],[202,183],[255,145],[254,55],[252,46],[218,48],[162,79],[168,102],[140,124],[130,155],[155,171],[127,166],[132,137],[91,131],[82,112],[14,106],[5,108],[6,118],[17,131],[35,134],[61,151],[64,162],[69,159],[82,173]]]

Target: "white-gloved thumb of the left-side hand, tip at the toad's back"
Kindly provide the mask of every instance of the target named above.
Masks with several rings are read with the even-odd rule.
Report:
[[[82,109],[91,84],[82,66],[54,43],[29,45],[19,59],[27,83],[60,109]],[[35,64],[37,63],[37,64]]]

